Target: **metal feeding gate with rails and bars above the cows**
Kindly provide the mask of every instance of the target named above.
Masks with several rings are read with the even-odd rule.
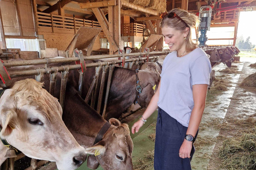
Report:
[[[97,105],[97,111],[99,113],[102,96],[103,96],[103,87],[106,82],[106,73],[109,70],[109,78],[107,80],[107,90],[106,90],[106,96],[105,96],[105,103],[103,108],[103,114],[105,115],[106,107],[107,107],[107,100],[108,100],[108,94],[110,89],[110,82],[111,82],[111,76],[114,71],[114,67],[116,64],[119,64],[120,67],[128,67],[127,64],[130,64],[129,68],[134,64],[140,64],[143,61],[146,62],[156,62],[158,56],[157,55],[167,55],[169,52],[149,52],[149,49],[146,48],[145,52],[143,53],[130,53],[125,54],[124,50],[119,50],[119,54],[114,55],[94,55],[94,56],[83,56],[82,50],[74,50],[75,57],[70,58],[44,58],[44,59],[37,59],[37,60],[18,60],[18,61],[2,61],[0,62],[0,78],[2,81],[0,81],[0,84],[2,87],[9,87],[10,82],[12,78],[18,78],[18,77],[26,77],[35,75],[35,79],[39,82],[43,80],[44,74],[50,74],[50,94],[54,94],[54,87],[55,87],[55,81],[57,80],[57,73],[61,73],[61,87],[60,87],[60,104],[63,108],[64,105],[64,99],[65,99],[65,91],[66,91],[66,83],[68,78],[68,72],[70,70],[78,70],[79,72],[79,81],[78,81],[78,91],[79,94],[82,93],[82,87],[83,87],[83,78],[84,78],[84,72],[86,71],[86,68],[95,67],[96,73],[94,75],[94,79],[91,87],[89,89],[89,92],[85,98],[85,101],[89,101],[90,98],[95,97],[94,94],[92,95],[93,90],[95,87],[97,87],[97,82],[99,78],[100,70],[102,70],[102,79],[100,84],[100,91],[99,91],[99,99],[98,99],[98,105]],[[99,61],[97,63],[86,63],[88,60],[106,60],[109,59],[109,61]],[[113,59],[117,58],[117,60]],[[113,60],[111,60],[113,59]],[[68,65],[70,62],[74,62],[73,65]],[[49,66],[49,64],[61,64],[61,66]],[[26,69],[22,71],[7,71],[8,68],[15,69],[16,66],[35,66],[34,69]],[[43,66],[44,65],[44,66]],[[42,67],[43,66],[43,67]],[[92,103],[94,103],[92,101]],[[22,153],[19,154],[17,157],[9,158],[6,160],[5,163],[3,163],[2,170],[13,170],[14,169],[14,161],[18,160],[22,157],[24,157]],[[43,164],[47,163],[45,160],[41,160],[37,162],[36,159],[31,159],[30,167],[27,169],[36,169],[39,166],[42,166]],[[55,169],[55,167],[54,167]]]

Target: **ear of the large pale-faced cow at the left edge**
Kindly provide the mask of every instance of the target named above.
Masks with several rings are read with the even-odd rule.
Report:
[[[17,113],[14,111],[7,112],[5,123],[3,124],[3,129],[1,130],[0,136],[6,137],[11,134],[12,130],[15,128],[15,121],[17,118]]]

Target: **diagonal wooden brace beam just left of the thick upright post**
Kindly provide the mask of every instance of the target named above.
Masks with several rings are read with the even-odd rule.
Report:
[[[92,11],[93,11],[94,15],[96,16],[98,22],[100,23],[100,26],[101,26],[103,32],[105,33],[105,36],[107,37],[107,39],[109,41],[109,44],[113,46],[114,52],[117,52],[118,46],[116,45],[113,37],[110,35],[110,33],[108,31],[107,24],[105,23],[105,20],[103,19],[102,15],[99,11],[99,8],[92,8]]]

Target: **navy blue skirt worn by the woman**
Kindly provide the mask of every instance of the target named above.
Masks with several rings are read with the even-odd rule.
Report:
[[[195,152],[194,145],[191,149],[190,158],[183,159],[179,157],[179,150],[185,139],[187,129],[186,126],[158,108],[154,156],[155,170],[191,170],[190,161]]]

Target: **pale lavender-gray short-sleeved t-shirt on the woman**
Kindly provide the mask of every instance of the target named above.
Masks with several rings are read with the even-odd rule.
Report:
[[[196,48],[183,57],[172,52],[165,57],[158,106],[188,127],[194,107],[193,85],[209,84],[211,63],[204,50]]]

